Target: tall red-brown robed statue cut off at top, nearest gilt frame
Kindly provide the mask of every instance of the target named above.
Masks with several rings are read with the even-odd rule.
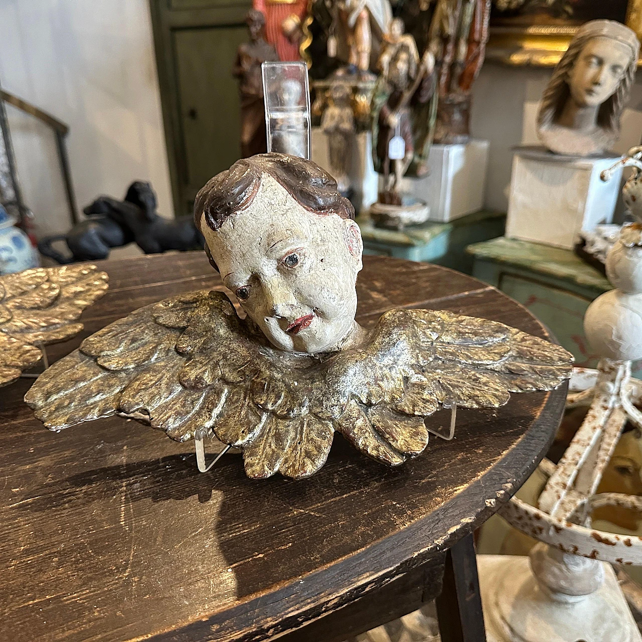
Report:
[[[437,0],[428,46],[438,69],[435,143],[470,139],[471,88],[486,52],[490,0]]]

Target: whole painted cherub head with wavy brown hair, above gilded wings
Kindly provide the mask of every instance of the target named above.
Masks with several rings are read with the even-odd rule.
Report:
[[[196,196],[210,261],[275,347],[327,352],[358,332],[363,243],[354,208],[315,163],[278,153],[239,160]]]

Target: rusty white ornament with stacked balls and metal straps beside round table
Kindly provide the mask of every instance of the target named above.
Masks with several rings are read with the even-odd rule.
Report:
[[[642,381],[631,361],[642,359],[642,148],[614,169],[634,167],[623,189],[636,223],[623,227],[607,256],[614,286],[589,306],[584,331],[602,356],[597,370],[575,369],[567,407],[589,406],[586,418],[557,466],[540,464],[548,481],[537,507],[513,498],[501,515],[539,540],[524,557],[480,559],[489,640],[493,642],[640,642],[611,563],[642,564],[642,539],[591,528],[596,508],[642,510],[642,498],[596,494],[627,424],[642,429]]]

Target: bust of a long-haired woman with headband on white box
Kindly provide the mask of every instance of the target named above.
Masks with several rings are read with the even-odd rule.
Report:
[[[551,152],[591,156],[611,148],[620,135],[638,53],[638,37],[620,22],[594,20],[577,31],[537,116],[537,134]]]

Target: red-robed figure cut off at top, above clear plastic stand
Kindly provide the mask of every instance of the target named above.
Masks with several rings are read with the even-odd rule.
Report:
[[[252,0],[252,6],[265,16],[267,40],[278,54],[275,60],[300,60],[301,27],[308,0]]]

